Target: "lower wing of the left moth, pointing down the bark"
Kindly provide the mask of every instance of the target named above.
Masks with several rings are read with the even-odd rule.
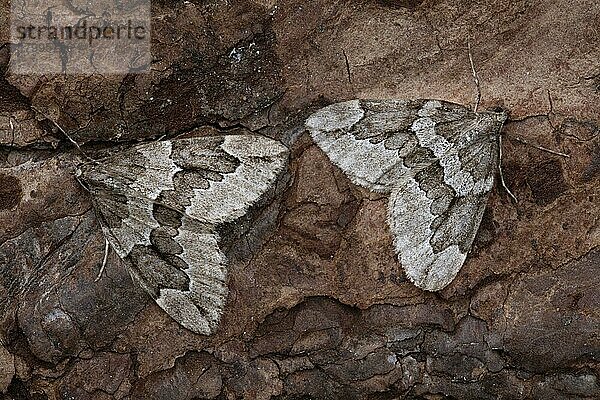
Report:
[[[102,217],[114,206],[114,201],[102,197],[94,202]],[[150,225],[148,230],[144,213],[150,207],[145,198],[128,198],[131,214],[118,230],[102,224],[105,237],[134,281],[171,318],[193,332],[208,335],[217,328],[227,299],[227,258],[219,247],[219,235],[173,209],[170,217],[177,216],[178,226]]]

